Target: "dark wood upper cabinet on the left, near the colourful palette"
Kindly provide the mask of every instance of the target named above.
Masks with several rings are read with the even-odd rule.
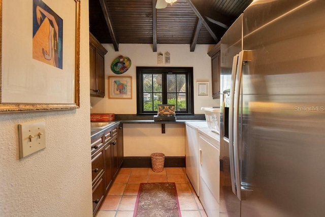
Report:
[[[105,59],[107,50],[89,33],[90,96],[105,96]]]

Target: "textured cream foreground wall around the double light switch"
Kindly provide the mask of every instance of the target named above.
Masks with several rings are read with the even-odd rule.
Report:
[[[80,108],[0,113],[0,216],[92,216],[88,20],[81,1]],[[18,124],[42,119],[46,148],[19,160]]]

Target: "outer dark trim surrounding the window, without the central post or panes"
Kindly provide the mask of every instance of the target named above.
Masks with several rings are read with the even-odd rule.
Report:
[[[137,67],[137,115],[156,115],[156,112],[143,112],[142,104],[143,104],[143,94],[141,91],[141,81],[142,81],[142,73],[143,72],[150,73],[184,73],[188,74],[188,112],[177,112],[176,115],[193,115],[194,114],[194,91],[193,91],[193,67]]]

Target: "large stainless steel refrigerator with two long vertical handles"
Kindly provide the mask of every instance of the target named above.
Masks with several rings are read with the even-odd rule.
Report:
[[[325,216],[325,1],[253,1],[220,54],[220,217]]]

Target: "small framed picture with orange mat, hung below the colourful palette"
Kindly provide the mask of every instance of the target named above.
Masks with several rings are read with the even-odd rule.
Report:
[[[132,99],[132,77],[108,76],[108,98]]]

